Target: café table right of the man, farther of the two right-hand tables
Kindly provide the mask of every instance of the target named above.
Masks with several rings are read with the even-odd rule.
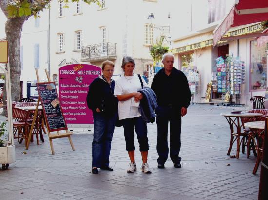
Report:
[[[243,133],[241,130],[244,129],[244,124],[241,121],[241,118],[249,118],[249,119],[255,119],[257,120],[258,117],[262,116],[261,113],[245,113],[241,111],[233,111],[230,113],[221,113],[221,116],[224,116],[230,126],[231,131],[231,140],[230,140],[230,146],[227,152],[227,155],[230,155],[232,150],[232,145],[236,141],[237,147],[236,147],[236,159],[239,158],[239,152],[240,152],[240,146],[242,143],[242,153],[244,153],[245,148],[245,140],[247,139],[248,133]],[[235,132],[236,130],[236,132]],[[240,137],[242,136],[242,139],[240,141]]]

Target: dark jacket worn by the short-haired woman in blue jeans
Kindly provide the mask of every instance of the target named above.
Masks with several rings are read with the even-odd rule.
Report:
[[[115,81],[107,83],[102,77],[97,77],[89,85],[87,105],[92,111],[100,109],[105,115],[110,116],[118,110],[118,99],[114,96]]]

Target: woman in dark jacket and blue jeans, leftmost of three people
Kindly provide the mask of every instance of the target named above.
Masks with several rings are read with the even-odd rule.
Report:
[[[89,86],[88,107],[93,112],[94,136],[92,142],[92,173],[98,174],[98,168],[113,171],[109,167],[111,142],[117,119],[118,100],[114,96],[114,63],[102,63],[102,76],[98,76]]]

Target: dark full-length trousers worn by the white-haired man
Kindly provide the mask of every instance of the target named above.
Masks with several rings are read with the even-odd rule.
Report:
[[[157,153],[159,164],[164,164],[168,159],[168,127],[170,122],[170,158],[173,163],[180,163],[179,157],[181,140],[181,113],[180,109],[158,106],[156,109],[157,124]]]

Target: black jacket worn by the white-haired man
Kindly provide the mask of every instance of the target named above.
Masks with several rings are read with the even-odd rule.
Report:
[[[154,76],[151,89],[155,92],[158,106],[172,106],[173,109],[187,108],[191,101],[187,77],[175,67],[167,76],[164,68]]]

